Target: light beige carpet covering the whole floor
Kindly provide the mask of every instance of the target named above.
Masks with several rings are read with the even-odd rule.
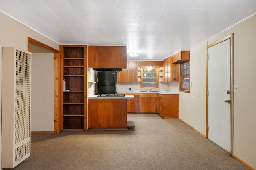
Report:
[[[15,170],[247,170],[179,120],[128,114],[129,131],[32,133],[31,156]]]

